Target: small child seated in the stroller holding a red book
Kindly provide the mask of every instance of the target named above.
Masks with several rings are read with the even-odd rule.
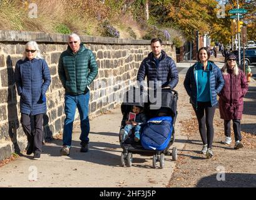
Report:
[[[120,130],[120,141],[123,143],[130,131],[135,129],[135,142],[140,141],[141,124],[146,123],[146,115],[143,113],[143,108],[133,106],[132,113],[128,113],[125,121],[125,128]]]

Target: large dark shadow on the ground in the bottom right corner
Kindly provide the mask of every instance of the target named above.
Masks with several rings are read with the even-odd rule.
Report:
[[[213,174],[200,179],[196,187],[256,187],[256,174]]]

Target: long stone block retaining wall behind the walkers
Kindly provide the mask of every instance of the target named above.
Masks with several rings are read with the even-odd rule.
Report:
[[[48,63],[51,85],[46,93],[48,112],[44,115],[44,139],[61,133],[64,123],[64,89],[58,78],[59,55],[67,36],[43,32],[0,31],[0,160],[23,151],[26,136],[19,123],[19,96],[14,81],[16,62],[22,58],[24,44],[34,40]],[[143,58],[150,53],[150,41],[81,36],[98,63],[98,76],[90,85],[90,118],[121,104],[126,89],[136,80]],[[175,46],[164,42],[166,53],[176,61]],[[76,112],[78,118],[78,112]]]

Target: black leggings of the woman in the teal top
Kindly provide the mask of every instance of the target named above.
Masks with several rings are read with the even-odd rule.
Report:
[[[198,102],[197,109],[193,106],[195,114],[197,115],[198,128],[203,144],[207,144],[208,148],[212,148],[213,142],[213,117],[216,106],[211,105],[210,102]]]

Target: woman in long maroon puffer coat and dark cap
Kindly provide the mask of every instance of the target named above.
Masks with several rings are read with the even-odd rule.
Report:
[[[218,100],[220,118],[224,119],[225,144],[231,144],[230,121],[233,121],[233,131],[235,133],[235,149],[243,147],[240,142],[241,124],[243,112],[243,97],[248,91],[248,83],[245,74],[237,66],[237,57],[230,54],[222,68],[225,85]]]

